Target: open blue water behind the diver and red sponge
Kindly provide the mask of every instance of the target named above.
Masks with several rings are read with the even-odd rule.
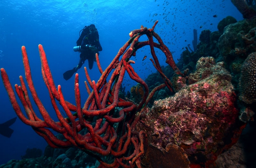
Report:
[[[103,47],[99,57],[105,69],[129,39],[130,31],[139,29],[141,25],[151,28],[158,20],[155,32],[177,60],[183,47],[187,44],[192,46],[193,29],[197,29],[198,36],[205,29],[216,31],[218,22],[228,15],[237,20],[243,19],[230,0],[2,0],[0,67],[5,68],[13,86],[20,84],[19,76],[24,76],[20,49],[25,45],[37,94],[49,114],[56,119],[42,80],[38,44],[44,47],[55,84],[60,84],[66,100],[74,103],[74,77],[65,81],[62,74],[78,64],[79,54],[72,48],[85,25],[95,24],[98,29]],[[136,57],[132,58],[136,62],[133,64],[135,71],[143,79],[155,72],[149,53],[149,47],[146,47],[138,50]],[[142,62],[144,55],[148,57]],[[158,53],[158,58],[162,65],[166,65],[163,54]],[[88,66],[88,62],[84,66]],[[78,73],[84,102],[88,95],[83,87],[86,80],[83,68]],[[93,80],[98,80],[100,74],[96,64],[89,74]],[[125,78],[126,91],[135,84]],[[35,108],[35,104],[33,106]],[[0,107],[0,123],[16,116],[2,82]],[[39,113],[36,108],[35,111]],[[11,128],[14,129],[11,138],[0,135],[0,165],[11,159],[20,159],[27,148],[44,151],[47,143],[20,119]]]

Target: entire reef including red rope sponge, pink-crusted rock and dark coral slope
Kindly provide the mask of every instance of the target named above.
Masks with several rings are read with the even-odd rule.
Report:
[[[84,108],[79,105],[78,75],[75,78],[78,107],[76,108],[61,97],[60,86],[56,89],[51,72],[48,71],[49,66],[44,51],[39,45],[43,78],[49,87],[51,100],[61,102],[68,115],[64,118],[56,110],[61,122],[51,123],[51,118],[47,118],[47,112],[40,104],[39,110],[43,113],[44,120],[50,122],[40,120],[33,111],[30,111],[32,108],[29,107],[27,89],[23,78],[20,77],[22,84],[15,85],[15,89],[29,115],[29,119],[26,119],[17,108],[7,74],[1,69],[13,108],[22,121],[33,126],[51,146],[69,148],[53,149],[47,146],[44,156],[20,161],[11,160],[0,168],[5,166],[189,168],[189,165],[193,168],[209,166],[214,168],[214,164],[212,165],[214,161],[217,168],[232,167],[236,165],[235,160],[241,162],[243,167],[245,159],[238,158],[239,156],[234,154],[243,153],[240,149],[241,144],[234,146],[237,152],[228,149],[237,142],[246,123],[252,122],[255,115],[256,17],[253,17],[255,11],[253,12],[246,3],[239,3],[241,0],[232,0],[232,2],[244,17],[250,19],[236,22],[229,16],[219,22],[219,31],[203,30],[197,47],[194,45],[195,40],[193,42],[193,52],[189,52],[185,47],[186,50],[182,53],[177,67],[172,54],[153,31],[155,25],[152,29],[141,27],[133,30],[130,33],[131,39],[120,49],[105,71],[101,69],[97,60],[102,74],[99,83],[91,81],[86,74],[92,91],[87,85],[90,96]],[[144,34],[147,35],[148,41],[139,42],[138,39]],[[159,44],[153,42],[153,37]],[[150,74],[144,82],[133,71],[131,64],[134,61],[130,58],[136,54],[136,50],[145,45],[150,46],[154,59],[151,61],[158,73]],[[168,66],[160,66],[154,47],[165,53]],[[22,52],[27,81],[31,86],[32,79],[29,75],[30,68],[27,66],[25,47],[22,47]],[[119,60],[121,55],[123,58]],[[184,70],[184,73],[182,74],[179,69]],[[188,76],[186,76],[187,69],[192,72]],[[114,74],[107,82],[106,77],[111,70]],[[125,88],[121,85],[125,71],[131,79],[138,82],[131,88],[131,93],[126,95]],[[236,95],[239,95],[239,99]],[[38,102],[38,99],[36,101]],[[53,106],[56,107],[56,104]],[[151,106],[153,107],[149,108]],[[83,113],[79,109],[82,109]],[[63,135],[53,136],[47,128],[54,130],[61,128],[59,133]],[[89,142],[88,146],[79,143],[83,139]],[[250,146],[248,145],[247,148]],[[226,153],[216,160],[223,151]],[[94,157],[87,154],[93,154]],[[227,162],[229,155],[234,157]],[[96,160],[98,160],[96,164],[89,163]],[[223,161],[226,163],[223,164]]]

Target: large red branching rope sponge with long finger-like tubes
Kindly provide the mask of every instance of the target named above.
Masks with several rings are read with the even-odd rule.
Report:
[[[25,46],[22,46],[26,81],[43,120],[39,119],[35,114],[24,79],[20,76],[21,86],[16,84],[15,90],[22,102],[22,106],[25,108],[27,118],[25,117],[17,103],[8,75],[5,69],[1,68],[3,84],[15,113],[25,124],[32,126],[35,132],[42,136],[51,147],[67,148],[75,146],[80,148],[84,152],[93,155],[100,162],[99,168],[118,166],[125,168],[140,167],[141,156],[145,153],[143,146],[147,139],[147,134],[145,134],[144,130],[134,131],[136,123],[140,120],[139,116],[135,118],[135,114],[145,109],[150,99],[152,99],[155,92],[159,89],[166,86],[171,92],[173,91],[172,82],[163,73],[154,47],[157,47],[165,54],[167,58],[166,62],[172,67],[175,74],[184,76],[176,66],[170,50],[163,44],[159,35],[153,31],[157,23],[158,21],[155,22],[152,29],[141,26],[140,29],[131,31],[129,34],[130,39],[121,47],[118,54],[104,71],[99,63],[98,54],[96,54],[98,69],[102,74],[97,83],[91,81],[88,71],[84,67],[89,84],[85,82],[89,97],[83,107],[81,106],[78,74],[75,76],[76,105],[74,105],[64,99],[61,86],[55,86],[46,54],[42,45],[39,45],[42,77],[49,91],[49,97],[59,121],[54,121],[51,118],[37,96],[32,81],[28,55]],[[146,35],[148,40],[139,42],[138,40],[142,35]],[[158,43],[153,41],[153,37]],[[149,92],[147,84],[136,74],[131,66],[135,62],[130,60],[132,56],[136,55],[136,51],[145,45],[150,46],[153,57],[150,60],[163,80],[163,84],[159,84],[151,92]],[[120,57],[121,60],[119,60]],[[111,72],[112,70],[113,72]],[[140,86],[135,89],[136,94],[140,94],[140,96],[143,94],[138,103],[118,97],[125,72],[129,74],[132,80],[140,83]],[[107,81],[110,73],[110,79]],[[92,91],[89,89],[89,86],[91,86]],[[142,87],[143,89],[141,89]],[[64,109],[67,114],[66,118],[61,114],[56,102],[59,102]],[[114,114],[116,108],[120,108],[118,114]],[[84,129],[86,129],[86,133],[81,133]],[[64,139],[55,136],[52,131],[62,134]],[[62,156],[64,157],[64,155]],[[63,157],[59,158],[58,161],[65,162],[66,166],[70,165],[70,159],[63,159]]]

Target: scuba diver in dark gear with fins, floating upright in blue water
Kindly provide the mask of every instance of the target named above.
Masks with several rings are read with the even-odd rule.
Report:
[[[102,51],[101,44],[99,43],[98,30],[94,24],[85,26],[84,29],[79,32],[79,39],[76,41],[76,45],[77,46],[74,47],[73,50],[75,52],[81,52],[80,60],[76,67],[66,71],[63,74],[63,77],[66,81],[70,79],[79,68],[82,67],[86,60],[88,60],[89,69],[92,69],[93,62],[96,62],[95,54],[97,53],[99,55],[99,51]]]

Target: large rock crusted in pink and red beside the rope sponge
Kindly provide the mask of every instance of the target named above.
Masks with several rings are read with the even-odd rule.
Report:
[[[155,101],[137,129],[147,132],[149,148],[164,151],[175,144],[190,163],[207,166],[234,139],[236,95],[223,62],[216,64],[212,57],[200,58],[189,79],[190,85],[174,96]]]

